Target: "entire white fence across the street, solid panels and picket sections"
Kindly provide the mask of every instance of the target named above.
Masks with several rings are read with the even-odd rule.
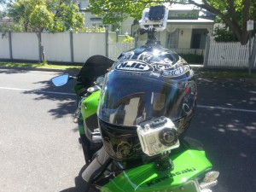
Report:
[[[1,34],[1,32],[0,32]],[[105,55],[116,60],[126,50],[134,49],[135,43],[118,43],[115,33],[42,33],[45,59],[47,61],[83,63],[91,55]],[[141,42],[137,42],[141,44]],[[256,42],[255,42],[256,52]],[[184,50],[177,50],[184,53]],[[205,55],[204,67],[248,67],[249,49],[240,43],[216,43],[207,37],[206,50],[189,50],[190,54]],[[195,53],[196,51],[196,53]],[[256,54],[256,53],[255,53]],[[254,55],[255,55],[254,54]],[[39,61],[37,35],[33,32],[7,32],[0,37],[0,59]],[[256,62],[253,58],[253,68]]]

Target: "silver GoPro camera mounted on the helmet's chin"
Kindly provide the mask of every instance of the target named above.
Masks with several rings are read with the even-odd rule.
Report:
[[[137,126],[137,134],[145,154],[153,156],[179,147],[177,128],[171,119],[160,117]]]

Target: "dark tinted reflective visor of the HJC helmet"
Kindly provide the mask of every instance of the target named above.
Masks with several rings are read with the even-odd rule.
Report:
[[[195,81],[113,71],[102,86],[98,117],[114,125],[133,126],[166,116],[172,121],[195,105]]]

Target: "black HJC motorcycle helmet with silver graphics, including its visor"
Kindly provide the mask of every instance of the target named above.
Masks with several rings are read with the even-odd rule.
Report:
[[[98,108],[103,146],[115,160],[137,159],[137,125],[165,116],[179,136],[189,127],[196,100],[193,70],[175,52],[146,44],[119,56],[106,74]]]

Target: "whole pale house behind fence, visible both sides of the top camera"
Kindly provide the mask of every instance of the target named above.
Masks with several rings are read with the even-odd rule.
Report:
[[[88,0],[79,1],[80,9],[84,10],[85,26],[103,26],[101,17],[85,9],[88,5]],[[119,35],[138,35],[141,44],[146,42],[147,36],[139,35],[139,25],[133,19],[128,18],[119,25]],[[167,49],[204,49],[207,34],[212,33],[213,25],[214,15],[209,12],[195,8],[194,5],[172,4],[166,30],[157,36]],[[112,26],[109,29],[114,30]]]

